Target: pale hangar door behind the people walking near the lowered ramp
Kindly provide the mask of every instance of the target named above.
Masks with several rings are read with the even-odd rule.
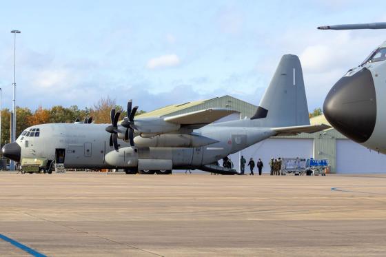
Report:
[[[241,155],[248,161],[250,157],[254,161],[261,158],[264,164],[263,172],[270,172],[270,159],[274,158],[309,158],[314,156],[313,138],[268,138],[241,151]],[[230,156],[234,167],[239,171],[238,153]],[[221,161],[222,163],[222,161]],[[249,173],[249,167],[245,165],[245,172]],[[255,167],[256,172],[256,167]]]

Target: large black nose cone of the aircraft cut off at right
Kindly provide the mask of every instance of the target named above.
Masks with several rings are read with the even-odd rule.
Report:
[[[357,143],[367,141],[376,123],[376,92],[372,73],[363,68],[336,82],[327,94],[323,112],[338,132]]]

